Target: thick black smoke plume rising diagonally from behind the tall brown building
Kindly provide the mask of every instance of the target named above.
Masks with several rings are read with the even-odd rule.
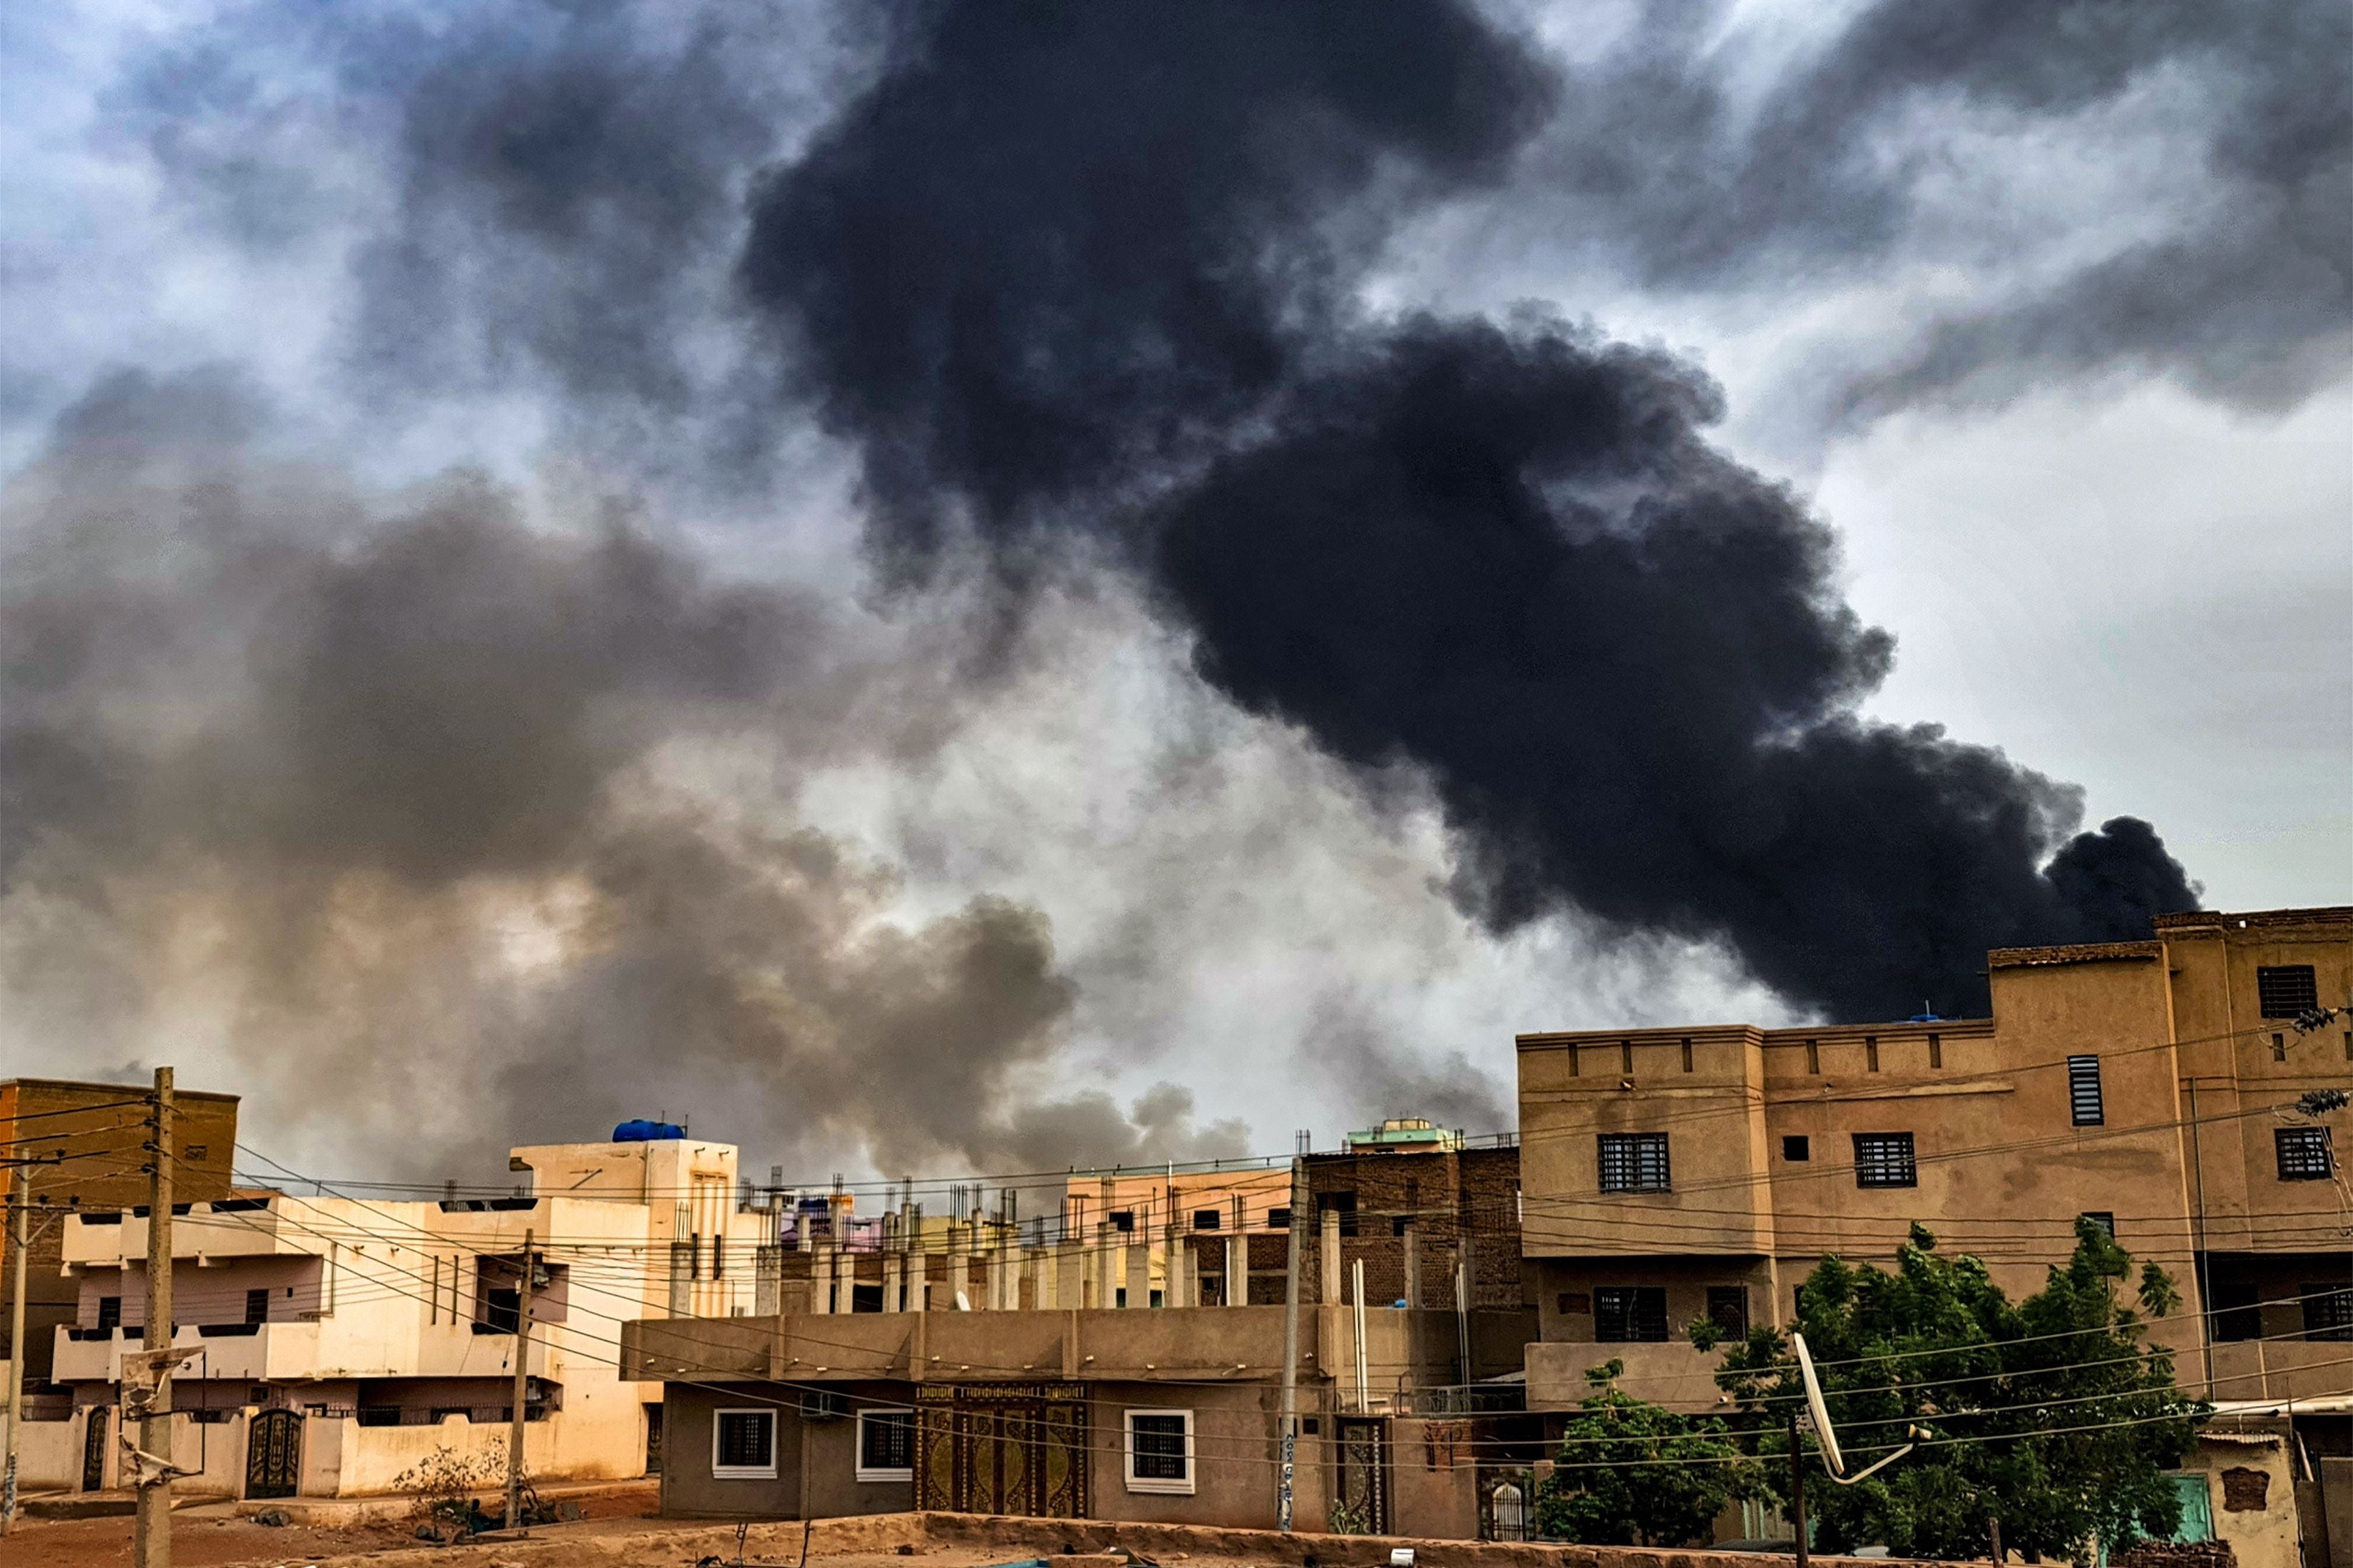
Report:
[[[1431,773],[1459,893],[1713,936],[1807,1006],[1984,1004],[1984,950],[2193,893],[2071,790],[1857,717],[1892,656],[1718,393],[1544,315],[1384,320],[1386,223],[1499,179],[1555,80],[1466,7],[913,14],[744,254],[878,545],[1148,574],[1198,668]]]

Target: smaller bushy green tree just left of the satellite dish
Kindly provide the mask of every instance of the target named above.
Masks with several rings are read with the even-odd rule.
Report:
[[[1555,1474],[1537,1486],[1537,1530],[1591,1547],[1708,1540],[1727,1502],[1755,1493],[1753,1465],[1722,1420],[1678,1415],[1617,1387],[1624,1361],[1586,1371]]]

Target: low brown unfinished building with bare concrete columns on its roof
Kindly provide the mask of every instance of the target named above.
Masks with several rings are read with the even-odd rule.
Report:
[[[1515,1152],[1391,1140],[1306,1168],[1294,1516],[1482,1535],[1539,1458]],[[1285,1166],[1085,1173],[1052,1215],[960,1199],[946,1234],[901,1206],[880,1255],[816,1248],[774,1316],[631,1324],[628,1373],[666,1382],[664,1509],[1273,1526],[1289,1185]],[[1468,1298],[1464,1265],[1485,1281]]]

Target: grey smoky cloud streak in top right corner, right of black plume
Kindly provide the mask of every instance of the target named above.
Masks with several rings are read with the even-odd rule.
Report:
[[[1501,228],[1671,292],[1960,273],[1960,299],[1838,371],[1852,421],[2115,371],[2285,409],[2344,371],[2346,7],[1873,0],[1772,61],[1727,9],[1642,5],[1591,49]],[[2106,242],[2108,212],[2035,209],[2151,143],[2165,165]],[[2057,256],[2019,270],[2052,228]]]

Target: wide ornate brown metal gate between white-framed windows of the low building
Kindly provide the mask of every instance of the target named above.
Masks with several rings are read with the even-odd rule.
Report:
[[[1035,1519],[1085,1516],[1085,1387],[915,1389],[915,1507]]]

